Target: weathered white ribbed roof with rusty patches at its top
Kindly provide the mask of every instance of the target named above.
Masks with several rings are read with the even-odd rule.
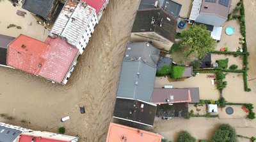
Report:
[[[76,46],[95,13],[95,9],[83,2],[68,0],[54,22],[50,36],[61,36]]]

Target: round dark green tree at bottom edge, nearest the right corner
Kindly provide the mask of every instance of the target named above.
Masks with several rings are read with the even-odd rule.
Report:
[[[229,124],[221,124],[218,130],[216,130],[214,142],[237,142],[236,130]]]

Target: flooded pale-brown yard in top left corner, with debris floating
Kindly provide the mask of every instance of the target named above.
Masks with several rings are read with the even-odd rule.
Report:
[[[21,6],[13,6],[8,0],[0,2],[0,34],[17,37],[20,34],[32,36],[37,40],[45,41],[49,29],[44,29],[44,26],[37,24],[36,19],[28,10],[24,10]],[[25,17],[16,14],[17,10],[26,12]],[[20,26],[21,29],[7,28],[10,24]]]

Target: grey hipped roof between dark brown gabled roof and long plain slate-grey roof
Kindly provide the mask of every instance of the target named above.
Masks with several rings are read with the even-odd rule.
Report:
[[[142,59],[145,63],[156,67],[160,51],[147,42],[132,42],[127,45],[124,61]]]

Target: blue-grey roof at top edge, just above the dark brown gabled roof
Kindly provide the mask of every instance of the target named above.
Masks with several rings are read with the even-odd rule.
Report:
[[[167,13],[175,17],[175,19],[178,19],[181,9],[179,3],[175,3],[171,0],[159,0],[156,7],[154,6],[155,3],[156,0],[141,0],[139,10],[163,8]]]

